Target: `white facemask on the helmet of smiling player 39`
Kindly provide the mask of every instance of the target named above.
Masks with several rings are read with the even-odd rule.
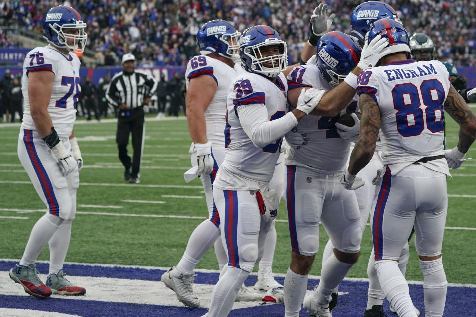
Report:
[[[260,48],[275,45],[278,46],[279,54],[263,57]],[[246,47],[243,53],[251,58],[251,71],[263,74],[267,77],[274,78],[288,67],[286,42],[276,38],[266,39],[266,41],[262,43]],[[265,65],[266,63],[268,63],[268,66]],[[272,64],[272,66],[270,64]]]

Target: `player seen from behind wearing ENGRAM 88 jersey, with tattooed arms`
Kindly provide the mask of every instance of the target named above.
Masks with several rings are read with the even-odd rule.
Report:
[[[447,281],[441,245],[447,212],[446,175],[450,175],[448,166],[458,168],[466,160],[475,140],[476,117],[451,85],[442,63],[408,59],[408,34],[400,23],[391,19],[373,23],[366,43],[379,35],[389,39],[388,51],[378,67],[359,75],[360,133],[342,183],[347,189],[363,185],[355,175],[372,158],[381,128],[385,166],[376,179],[380,190],[373,202],[371,222],[378,279],[400,317],[417,316],[398,266],[414,226],[426,316],[443,316]],[[457,147],[446,151],[443,107],[460,125]]]

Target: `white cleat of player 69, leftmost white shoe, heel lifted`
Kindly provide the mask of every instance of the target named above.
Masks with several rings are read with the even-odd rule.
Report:
[[[200,306],[198,297],[193,293],[193,273],[183,274],[174,266],[162,274],[160,279],[177,294],[180,302],[192,308]]]

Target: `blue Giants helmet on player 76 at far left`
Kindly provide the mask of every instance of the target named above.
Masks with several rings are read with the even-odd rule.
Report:
[[[43,17],[43,37],[48,43],[66,48],[68,51],[82,53],[86,47],[88,35],[85,32],[86,23],[81,20],[79,13],[69,6],[52,7]],[[66,29],[77,29],[78,34],[65,33]],[[68,44],[68,39],[74,44]]]

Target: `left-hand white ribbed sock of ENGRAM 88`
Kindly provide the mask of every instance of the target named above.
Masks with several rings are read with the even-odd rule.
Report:
[[[393,260],[375,261],[378,280],[385,297],[399,317],[417,317],[405,277]]]

